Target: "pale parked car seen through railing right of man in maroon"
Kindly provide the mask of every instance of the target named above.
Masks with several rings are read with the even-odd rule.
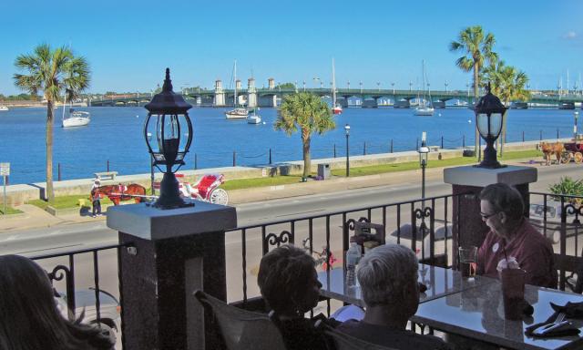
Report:
[[[547,222],[545,223],[545,211],[547,212]],[[547,201],[545,203],[532,203],[528,211],[528,221],[541,233],[545,234],[549,240],[556,244],[561,238],[561,213],[563,208],[560,201]],[[567,212],[567,222],[565,230],[567,237],[574,236],[577,232],[583,232],[579,224],[574,223],[575,214]],[[546,229],[545,229],[546,228]]]

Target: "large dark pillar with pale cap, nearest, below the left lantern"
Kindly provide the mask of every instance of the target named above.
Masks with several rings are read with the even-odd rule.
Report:
[[[132,247],[118,254],[123,348],[215,349],[220,339],[192,293],[226,300],[225,230],[235,208],[196,201],[159,210],[140,203],[112,207],[107,226]]]

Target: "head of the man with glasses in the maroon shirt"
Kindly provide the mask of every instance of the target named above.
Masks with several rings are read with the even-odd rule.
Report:
[[[496,234],[506,237],[522,221],[525,204],[514,187],[494,183],[486,186],[479,198],[482,220]]]

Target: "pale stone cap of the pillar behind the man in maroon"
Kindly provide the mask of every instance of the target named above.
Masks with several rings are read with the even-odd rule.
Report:
[[[455,167],[444,170],[444,182],[461,186],[486,187],[493,183],[516,186],[537,182],[538,171],[533,167],[508,165],[505,168],[486,169],[474,166]]]

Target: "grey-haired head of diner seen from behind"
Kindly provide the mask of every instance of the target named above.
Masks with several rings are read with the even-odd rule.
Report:
[[[356,272],[364,304],[413,315],[419,304],[418,265],[414,252],[403,245],[384,244],[367,252]]]

